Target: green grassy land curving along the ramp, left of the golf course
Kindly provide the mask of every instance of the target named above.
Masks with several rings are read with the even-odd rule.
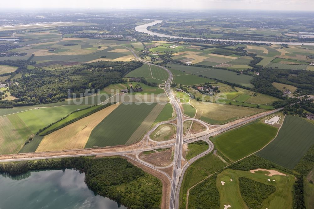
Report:
[[[194,186],[201,180],[205,179],[208,175],[225,167],[226,165],[227,164],[221,161],[216,155],[213,154],[213,152],[208,153],[204,157],[199,158],[194,163],[192,163],[188,167],[188,169],[186,170],[183,176],[183,181],[180,188],[179,208],[180,209],[186,208],[188,189],[190,189],[192,186]],[[189,206],[190,206],[190,196],[189,196]]]

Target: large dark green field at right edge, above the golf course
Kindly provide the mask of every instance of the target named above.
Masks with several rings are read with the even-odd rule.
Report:
[[[314,126],[297,116],[286,115],[278,136],[258,156],[293,169],[314,144]]]

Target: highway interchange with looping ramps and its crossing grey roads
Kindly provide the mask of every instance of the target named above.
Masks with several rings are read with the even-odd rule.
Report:
[[[141,59],[137,53],[135,51],[133,51],[133,49],[128,48],[126,46],[124,46],[125,48],[127,48],[128,50],[130,50],[134,57],[136,58],[136,60],[143,62],[144,64],[147,65],[154,65],[152,63],[146,62],[143,59]],[[213,129],[206,129],[206,131],[203,131],[195,136],[190,136],[190,137],[186,137],[183,138],[183,121],[186,120],[194,120],[194,121],[199,121],[198,119],[195,118],[189,118],[183,115],[180,104],[178,103],[178,101],[176,100],[175,96],[172,94],[172,90],[170,88],[170,84],[172,81],[172,73],[169,69],[167,69],[166,67],[163,66],[159,66],[159,65],[155,65],[158,67],[161,67],[162,69],[164,69],[169,77],[166,80],[166,82],[164,83],[164,89],[165,92],[167,94],[167,96],[170,99],[170,103],[172,104],[175,112],[176,112],[176,118],[171,120],[171,121],[177,121],[177,123],[175,124],[177,126],[177,133],[176,133],[176,139],[175,141],[170,141],[169,143],[155,143],[155,145],[153,147],[151,147],[149,145],[150,142],[153,142],[150,138],[149,135],[150,133],[152,133],[152,131],[154,131],[159,125],[164,124],[164,123],[171,123],[171,121],[164,121],[161,122],[159,124],[157,124],[156,126],[154,126],[151,130],[149,130],[146,135],[143,137],[143,139],[141,140],[141,144],[142,146],[139,148],[134,148],[132,150],[127,150],[127,151],[104,151],[104,152],[97,152],[97,149],[95,149],[95,151],[92,151],[91,153],[82,153],[82,152],[77,152],[75,154],[63,154],[63,152],[59,152],[56,153],[55,155],[51,154],[51,153],[47,153],[46,156],[41,156],[41,157],[26,157],[26,158],[19,158],[19,155],[15,155],[15,157],[10,157],[8,156],[7,159],[0,159],[0,162],[8,162],[8,161],[21,161],[21,160],[38,160],[38,159],[46,159],[46,158],[62,158],[62,157],[77,157],[77,156],[95,156],[95,155],[103,155],[103,156],[113,156],[113,155],[119,155],[119,156],[123,156],[125,158],[132,158],[132,160],[137,161],[138,163],[141,163],[142,166],[147,166],[150,169],[153,169],[157,172],[160,172],[162,174],[164,174],[166,176],[166,178],[170,181],[171,183],[171,191],[170,191],[170,196],[167,196],[167,198],[169,198],[167,200],[167,202],[169,203],[169,208],[178,208],[179,207],[179,192],[180,192],[180,186],[182,183],[182,179],[180,177],[183,177],[185,171],[187,170],[187,168],[189,167],[189,165],[191,163],[193,163],[194,161],[196,161],[198,158],[201,158],[203,156],[205,156],[206,154],[210,153],[211,151],[214,150],[214,145],[212,142],[209,141],[209,137],[210,136],[214,136],[217,135],[219,133],[222,133],[224,131],[230,130],[232,128],[235,128],[237,126],[241,126],[245,123],[248,123],[250,121],[254,121],[258,118],[262,118],[266,115],[269,114],[273,114],[281,109],[276,109],[276,110],[272,110],[272,111],[267,111],[261,114],[258,114],[256,116],[252,116],[249,118],[245,118],[245,119],[241,119],[241,120],[237,120],[234,123],[228,123],[222,126],[217,126]],[[199,121],[202,124],[206,124],[209,126],[209,124],[203,122],[203,121]],[[195,156],[194,158],[188,160],[183,166],[182,164],[182,147],[184,143],[191,143],[194,141],[198,141],[198,140],[203,140],[205,142],[207,142],[209,144],[208,149],[203,152],[200,153],[199,155]],[[144,142],[146,141],[146,142]],[[148,162],[145,162],[143,160],[141,160],[138,157],[138,153],[143,152],[143,151],[148,151],[148,150],[154,150],[156,148],[167,148],[167,147],[175,147],[175,151],[174,151],[174,157],[173,157],[173,162],[166,166],[166,167],[158,167],[155,166],[153,164],[150,164]],[[135,158],[131,157],[130,153],[135,153]],[[43,154],[43,153],[41,153]],[[53,155],[53,156],[52,156]],[[173,171],[172,171],[172,175],[169,176],[165,171],[160,170],[161,168],[169,168],[173,166]],[[165,195],[165,194],[164,194]]]

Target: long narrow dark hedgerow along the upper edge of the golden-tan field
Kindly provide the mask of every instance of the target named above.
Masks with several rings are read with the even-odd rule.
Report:
[[[115,104],[115,103],[114,103],[114,104]],[[63,128],[63,127],[65,127],[65,126],[68,126],[68,125],[71,124],[71,123],[74,123],[75,121],[78,121],[78,120],[80,120],[80,119],[82,119],[82,118],[85,118],[85,117],[87,117],[87,116],[89,116],[89,115],[92,115],[92,114],[94,114],[95,112],[98,112],[99,110],[105,109],[106,107],[108,107],[108,106],[110,106],[110,105],[112,105],[112,104],[111,104],[111,103],[108,103],[108,104],[106,104],[106,105],[100,105],[100,106],[97,107],[96,109],[91,110],[91,111],[85,113],[84,115],[81,115],[81,116],[79,116],[79,117],[77,117],[77,118],[74,118],[74,119],[72,119],[72,120],[70,120],[70,121],[68,121],[68,122],[66,122],[66,123],[63,123],[63,124],[61,124],[60,126],[54,128],[54,129],[51,129],[51,130],[46,131],[46,132],[44,132],[44,133],[41,133],[42,131],[45,131],[47,128],[49,128],[49,127],[52,126],[53,124],[56,124],[57,122],[60,122],[60,121],[62,121],[63,119],[67,118],[69,115],[71,115],[71,114],[73,114],[73,113],[75,113],[75,112],[81,111],[81,110],[73,111],[72,113],[70,113],[70,114],[67,115],[66,117],[63,117],[62,119],[60,119],[60,120],[58,120],[58,121],[56,121],[56,122],[54,122],[54,123],[51,123],[50,125],[46,126],[46,127],[43,128],[43,129],[40,129],[36,134],[37,134],[37,135],[40,135],[40,136],[46,136],[46,135],[48,135],[48,134],[50,134],[50,133],[52,133],[52,132],[54,132],[54,131],[59,130],[60,128]],[[84,109],[82,109],[82,110],[86,110],[86,109],[89,109],[89,108],[91,108],[91,107],[92,107],[92,106],[87,107],[87,108],[84,108]],[[40,133],[41,133],[41,134],[40,134]]]

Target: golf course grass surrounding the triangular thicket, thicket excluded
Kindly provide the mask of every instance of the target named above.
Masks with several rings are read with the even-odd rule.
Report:
[[[280,171],[284,173],[283,171]],[[241,195],[239,177],[248,178],[266,185],[272,185],[276,187],[276,191],[269,195],[263,202],[258,202],[260,207],[254,208],[292,208],[292,186],[295,182],[295,177],[291,174],[274,175],[272,177],[265,175],[265,171],[258,171],[251,173],[250,171],[231,170],[226,169],[216,178],[216,186],[220,195],[220,208],[224,208],[224,205],[231,205],[231,208],[248,208]],[[232,181],[230,181],[232,179]],[[271,179],[268,181],[267,179]],[[275,180],[275,181],[272,181]],[[222,185],[221,181],[225,182]],[[253,185],[250,185],[254,188]],[[255,186],[257,186],[255,184]],[[263,191],[263,190],[262,190]],[[266,190],[267,191],[267,190]],[[250,190],[250,196],[253,200],[254,197],[260,197],[263,194],[260,193],[260,188]]]

